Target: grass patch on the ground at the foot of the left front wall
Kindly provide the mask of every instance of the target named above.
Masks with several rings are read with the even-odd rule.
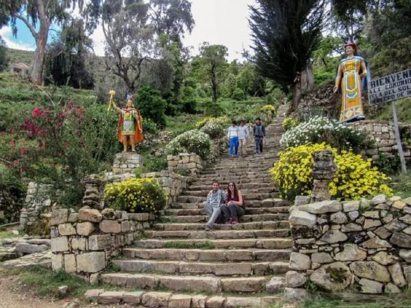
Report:
[[[49,268],[30,266],[26,268],[12,268],[3,272],[3,275],[14,275],[18,280],[25,283],[33,292],[40,297],[62,298],[73,296],[82,298],[84,293],[90,289],[114,290],[111,285],[90,285],[82,278],[75,277],[65,272],[53,272]],[[66,285],[67,294],[62,296],[58,287]]]

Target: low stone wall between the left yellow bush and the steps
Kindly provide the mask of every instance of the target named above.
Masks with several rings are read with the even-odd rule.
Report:
[[[160,172],[148,172],[141,175],[142,178],[153,177],[158,180],[167,193],[167,205],[177,201],[177,196],[182,193],[188,185],[188,177],[177,175],[173,171],[162,170]]]

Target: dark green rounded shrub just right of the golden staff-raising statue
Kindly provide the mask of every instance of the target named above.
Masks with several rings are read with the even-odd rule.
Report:
[[[140,110],[144,122],[145,118],[150,118],[162,128],[166,126],[166,101],[161,98],[159,91],[151,87],[142,87],[137,92],[136,108]]]

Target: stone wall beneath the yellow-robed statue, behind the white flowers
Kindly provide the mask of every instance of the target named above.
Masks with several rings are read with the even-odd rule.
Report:
[[[393,157],[397,154],[397,141],[395,140],[394,127],[387,121],[364,120],[348,124],[353,129],[366,131],[366,133],[375,140],[375,149],[367,149],[362,152],[363,155],[378,160],[379,154]],[[410,149],[403,146],[404,156],[407,160],[411,159]]]

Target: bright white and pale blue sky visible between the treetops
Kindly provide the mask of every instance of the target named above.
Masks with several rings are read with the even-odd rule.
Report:
[[[247,18],[248,5],[255,0],[192,0],[192,16],[195,27],[191,34],[186,34],[184,44],[192,46],[192,54],[198,53],[203,42],[223,44],[228,48],[229,61],[240,59],[243,49],[249,50],[251,44],[250,29]],[[18,36],[14,38],[10,27],[0,29],[8,47],[14,49],[34,50],[36,44],[29,29],[18,21]],[[51,31],[51,37],[53,31]],[[97,55],[104,54],[104,37],[101,29],[92,34]]]

